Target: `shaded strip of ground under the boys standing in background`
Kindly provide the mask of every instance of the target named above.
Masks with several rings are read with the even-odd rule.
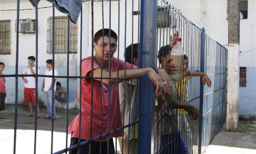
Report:
[[[41,107],[40,110],[43,116],[47,115],[46,107]],[[78,110],[68,110],[68,126],[78,113]],[[28,114],[28,105],[18,105],[17,129],[35,129],[35,116],[26,117]],[[5,110],[1,111],[1,116],[4,116],[6,119],[0,120],[0,129],[14,129],[15,105],[5,104]],[[56,108],[56,116],[54,131],[66,132],[66,110]],[[37,118],[37,130],[51,131],[51,129],[51,119]]]

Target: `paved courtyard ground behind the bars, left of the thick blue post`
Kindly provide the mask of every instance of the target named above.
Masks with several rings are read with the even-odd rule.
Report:
[[[13,154],[14,136],[14,105],[6,105],[1,116],[5,120],[0,120],[0,154]],[[46,108],[41,108],[42,115],[46,115]],[[27,118],[29,108],[26,105],[18,105],[18,125],[16,137],[16,154],[34,154],[34,118]],[[54,121],[53,132],[53,152],[65,149],[66,145],[66,110],[56,109],[57,120]],[[69,110],[69,120],[78,114],[78,110]],[[69,124],[68,123],[68,124]],[[37,154],[51,153],[51,120],[38,118],[37,121]],[[115,140],[114,140],[115,141]],[[118,143],[118,142],[117,142]],[[70,135],[68,135],[68,146],[70,145]],[[119,143],[117,145],[118,154],[120,152]]]

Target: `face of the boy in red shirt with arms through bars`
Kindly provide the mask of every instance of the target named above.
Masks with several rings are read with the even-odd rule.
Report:
[[[111,59],[115,54],[116,49],[117,49],[116,39],[112,37],[111,37],[111,42],[110,42],[110,38],[107,36],[104,36],[104,42],[103,42],[103,37],[99,38],[99,41],[97,44],[94,42],[94,51],[96,52],[96,56],[103,59],[104,61]],[[102,54],[102,51],[103,51],[103,54]]]

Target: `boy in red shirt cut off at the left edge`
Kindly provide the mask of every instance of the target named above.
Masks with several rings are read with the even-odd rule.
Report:
[[[0,75],[3,75],[3,70],[5,69],[5,64],[0,62]],[[5,110],[5,98],[6,98],[6,90],[5,90],[5,77],[0,77],[0,111]],[[0,119],[6,119],[5,117],[1,117]]]

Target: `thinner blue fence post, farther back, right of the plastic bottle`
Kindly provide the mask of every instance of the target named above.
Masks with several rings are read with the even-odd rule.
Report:
[[[201,56],[200,56],[200,71],[204,72],[204,47],[205,47],[205,29],[201,29]],[[200,78],[200,106],[199,106],[199,136],[198,136],[198,154],[201,154],[202,145],[202,129],[203,129],[203,107],[204,107],[204,83]]]

